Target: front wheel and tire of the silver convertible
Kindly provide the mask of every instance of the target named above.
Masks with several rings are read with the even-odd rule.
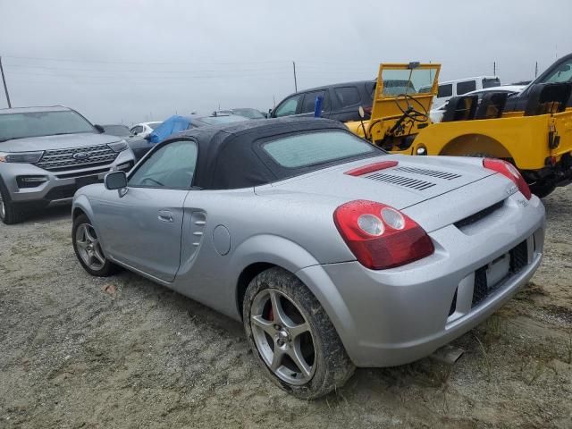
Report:
[[[105,257],[96,230],[85,214],[73,220],[71,242],[81,266],[91,275],[107,277],[117,271],[117,265]]]

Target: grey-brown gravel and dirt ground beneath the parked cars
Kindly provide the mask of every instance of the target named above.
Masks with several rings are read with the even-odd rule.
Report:
[[[96,279],[69,207],[0,225],[0,427],[572,427],[572,187],[544,204],[525,290],[425,358],[360,369],[322,400],[265,380],[241,325],[135,274]]]

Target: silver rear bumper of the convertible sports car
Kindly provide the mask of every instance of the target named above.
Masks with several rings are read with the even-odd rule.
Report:
[[[507,198],[508,200],[514,198]],[[316,293],[357,366],[415,361],[484,321],[532,277],[541,263],[544,209],[536,197],[510,207],[512,220],[482,221],[478,232],[455,225],[433,231],[435,253],[383,271],[357,262],[314,265],[297,275]],[[510,217],[509,217],[510,218]],[[475,273],[526,242],[526,263],[503,276],[475,304]],[[521,247],[522,248],[522,247]],[[325,287],[324,285],[329,287]],[[478,287],[478,285],[477,285]]]

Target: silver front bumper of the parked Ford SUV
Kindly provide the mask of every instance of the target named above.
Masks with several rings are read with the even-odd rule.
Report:
[[[121,168],[129,171],[135,163],[133,153],[124,150],[118,154],[112,164],[87,167],[79,170],[49,172],[32,164],[3,164],[2,181],[13,203],[24,207],[41,207],[69,203],[73,194],[89,181],[103,181],[105,173]],[[38,186],[23,188],[19,186],[20,176],[41,176],[46,181]]]

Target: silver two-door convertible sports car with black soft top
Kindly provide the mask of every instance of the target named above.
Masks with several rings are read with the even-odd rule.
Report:
[[[78,190],[80,264],[121,266],[242,321],[299,398],[481,323],[541,262],[544,208],[504,161],[391,156],[322,119],[179,133]]]

